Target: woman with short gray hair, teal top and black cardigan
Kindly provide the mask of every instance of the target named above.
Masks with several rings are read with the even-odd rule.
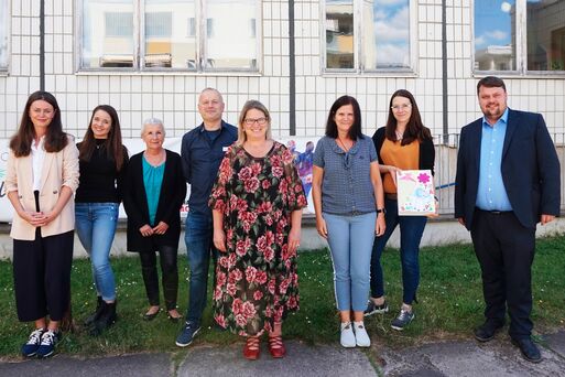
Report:
[[[143,315],[153,320],[160,311],[159,251],[163,295],[169,317],[181,319],[176,310],[178,270],[176,255],[181,235],[180,208],[186,196],[181,157],[163,148],[165,129],[156,118],[146,119],[141,129],[145,150],[130,159],[123,206],[128,214],[128,250],[138,251],[150,308]]]

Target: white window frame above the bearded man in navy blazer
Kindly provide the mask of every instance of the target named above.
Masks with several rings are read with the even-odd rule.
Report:
[[[471,67],[472,75],[482,77],[482,76],[502,76],[502,77],[565,77],[564,71],[533,71],[528,69],[528,0],[515,0],[515,69],[508,71],[485,71],[485,69],[475,69],[475,58],[476,58],[476,49],[475,49],[475,6],[477,1],[480,0],[471,0],[471,17],[470,17],[470,28],[471,28],[471,43],[472,43],[472,53],[471,53]],[[565,26],[565,24],[563,25]],[[512,32],[512,30],[509,30]]]

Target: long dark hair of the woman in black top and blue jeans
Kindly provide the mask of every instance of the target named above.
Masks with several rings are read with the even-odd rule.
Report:
[[[78,159],[82,161],[90,161],[93,158],[94,150],[96,149],[96,139],[93,132],[93,119],[96,111],[98,110],[102,110],[110,116],[110,132],[108,133],[108,139],[106,139],[106,141],[102,143],[102,148],[106,150],[106,155],[108,159],[116,161],[116,170],[120,171],[123,165],[123,147],[121,143],[120,119],[118,118],[118,112],[116,109],[110,105],[98,105],[93,110],[90,122],[88,123],[88,128],[85,132],[85,138],[83,139],[80,148],[78,149]]]

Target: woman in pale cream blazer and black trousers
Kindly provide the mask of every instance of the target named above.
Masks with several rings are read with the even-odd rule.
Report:
[[[10,140],[6,175],[15,209],[10,236],[18,317],[35,322],[21,349],[26,357],[51,356],[61,337],[70,301],[78,175],[78,150],[63,132],[57,100],[47,91],[33,93]]]

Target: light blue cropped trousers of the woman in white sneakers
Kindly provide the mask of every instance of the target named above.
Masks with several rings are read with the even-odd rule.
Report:
[[[371,247],[377,213],[341,216],[323,213],[334,262],[337,309],[362,312],[367,308]]]

